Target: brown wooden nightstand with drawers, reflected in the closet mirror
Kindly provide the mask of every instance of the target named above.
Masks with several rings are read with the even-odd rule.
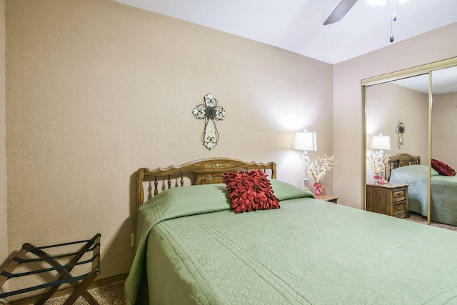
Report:
[[[408,184],[367,184],[366,210],[398,218],[409,217]]]

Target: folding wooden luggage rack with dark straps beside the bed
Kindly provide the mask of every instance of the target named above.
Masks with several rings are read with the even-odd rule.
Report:
[[[99,276],[101,273],[100,270],[100,237],[101,234],[96,234],[92,239],[84,241],[73,241],[65,244],[55,244],[51,246],[34,246],[32,244],[26,243],[22,246],[16,256],[14,256],[9,264],[6,265],[6,268],[0,273],[0,289],[1,286],[9,279],[17,279],[21,276],[30,276],[34,274],[46,274],[51,273],[55,275],[55,272],[59,274],[59,277],[56,278],[53,276],[53,280],[45,284],[39,284],[36,286],[26,287],[22,289],[17,289],[15,291],[4,292],[0,294],[0,299],[7,298],[9,296],[15,296],[17,294],[24,294],[26,292],[35,291],[38,289],[48,289],[43,296],[36,301],[35,304],[44,304],[44,302],[49,299],[54,292],[59,289],[59,286],[62,284],[70,284],[74,291],[70,294],[69,298],[66,299],[64,305],[74,304],[76,299],[79,296],[84,297],[84,299],[91,305],[99,305],[99,302],[94,299],[88,291],[86,291],[89,284]],[[51,256],[46,251],[47,249],[65,247],[70,245],[83,244],[79,250],[66,253],[66,254],[57,254]],[[46,251],[45,251],[46,250]],[[84,254],[90,254],[92,256],[89,259],[81,260]],[[30,254],[29,254],[30,253]],[[31,255],[33,254],[33,255]],[[69,258],[69,261],[66,264],[61,264],[59,260]],[[81,261],[80,261],[81,260]],[[48,268],[43,268],[44,264],[48,265]],[[84,264],[91,263],[91,270],[86,274],[81,274],[78,276],[73,276],[71,271],[75,266],[81,266]],[[34,265],[41,265],[39,269],[34,268]],[[28,271],[19,271],[14,273],[14,270],[17,266],[27,266]],[[0,304],[6,304],[3,301],[0,301]]]

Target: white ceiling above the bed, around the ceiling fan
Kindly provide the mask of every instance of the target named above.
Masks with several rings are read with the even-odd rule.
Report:
[[[341,0],[114,0],[336,64],[391,44],[391,1],[398,41],[457,22],[457,0],[358,0],[323,26]],[[147,30],[147,29],[146,29]]]

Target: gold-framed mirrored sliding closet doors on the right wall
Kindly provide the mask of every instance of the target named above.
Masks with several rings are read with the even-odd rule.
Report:
[[[457,124],[446,123],[447,120],[456,121],[451,113],[453,118],[457,117],[457,89],[450,89],[457,86],[457,76],[453,74],[456,70],[457,58],[453,58],[362,80],[363,180],[366,185],[363,189],[371,190],[372,186],[384,184],[383,187],[395,192],[402,190],[399,186],[407,184],[408,211],[425,216],[428,224],[431,218],[444,223],[453,218],[457,225],[457,204],[456,215],[447,215],[445,219],[439,218],[436,206],[430,204],[432,195],[435,196],[435,192],[431,192],[432,184],[443,179],[442,175],[438,175],[438,179],[434,177],[436,172],[431,168],[431,160],[446,159],[448,166],[457,168],[457,158],[451,160],[453,151],[449,148],[456,147],[452,135],[456,134]],[[378,139],[383,139],[385,144],[379,146]],[[382,153],[391,161],[385,168],[383,166],[383,179],[380,180],[371,161],[383,158]],[[433,190],[438,191],[440,187],[435,186]],[[453,189],[456,189],[453,198],[457,198],[457,180]],[[391,215],[406,216],[406,211],[400,213],[402,205],[398,202],[392,204]],[[397,214],[395,209],[398,209]],[[383,209],[386,210],[388,208]]]

